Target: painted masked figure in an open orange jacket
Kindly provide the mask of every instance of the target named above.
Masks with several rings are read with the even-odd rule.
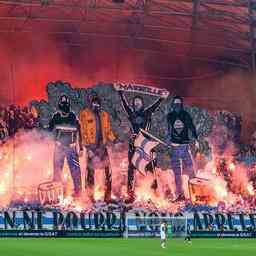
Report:
[[[112,170],[107,151],[108,142],[116,142],[108,112],[102,110],[101,99],[93,95],[90,106],[80,112],[81,133],[83,146],[86,148],[87,176],[86,187],[89,197],[94,201],[95,169],[104,169],[105,198],[110,202],[112,190]],[[99,165],[97,161],[99,160]]]

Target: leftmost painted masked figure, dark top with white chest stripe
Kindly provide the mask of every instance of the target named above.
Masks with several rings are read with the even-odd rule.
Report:
[[[74,196],[81,193],[81,170],[77,152],[77,142],[82,151],[80,124],[70,108],[70,100],[61,95],[58,102],[59,111],[54,113],[49,123],[49,130],[55,132],[54,181],[62,180],[64,161],[67,159],[74,184]]]

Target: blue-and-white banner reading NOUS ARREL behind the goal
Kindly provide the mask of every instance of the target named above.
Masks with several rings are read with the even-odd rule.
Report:
[[[255,237],[256,230],[256,213],[187,212],[174,215],[135,210],[126,217],[129,232],[135,237],[159,236],[159,227],[155,225],[160,223],[157,218],[172,223],[174,236],[182,233],[184,236],[189,229],[194,237]],[[169,218],[174,221],[168,221]]]

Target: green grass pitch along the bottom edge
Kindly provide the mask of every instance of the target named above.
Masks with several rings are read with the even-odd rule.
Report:
[[[169,240],[161,249],[158,239],[0,239],[1,256],[253,256],[254,239]]]

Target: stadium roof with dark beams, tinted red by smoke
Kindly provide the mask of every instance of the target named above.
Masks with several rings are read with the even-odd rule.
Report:
[[[1,33],[47,33],[60,44],[116,40],[179,62],[253,68],[249,0],[0,0]],[[120,0],[119,0],[120,2]],[[121,1],[122,2],[122,1]],[[186,63],[185,63],[186,62]],[[194,64],[193,64],[194,65]]]

